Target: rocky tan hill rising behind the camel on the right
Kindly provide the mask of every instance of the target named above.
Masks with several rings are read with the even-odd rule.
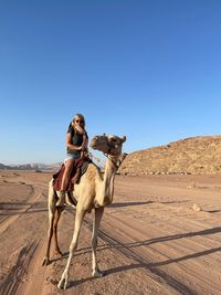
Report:
[[[198,136],[131,152],[120,173],[221,173],[221,135]]]

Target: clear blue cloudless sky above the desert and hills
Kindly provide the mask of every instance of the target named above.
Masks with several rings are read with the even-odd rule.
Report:
[[[62,161],[75,113],[127,152],[221,134],[221,1],[0,1],[0,162]]]

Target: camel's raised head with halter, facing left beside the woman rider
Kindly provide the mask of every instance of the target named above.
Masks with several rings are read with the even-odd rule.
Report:
[[[101,135],[92,138],[90,146],[93,149],[103,151],[110,156],[122,155],[123,144],[126,141],[126,136],[118,137],[116,135]]]

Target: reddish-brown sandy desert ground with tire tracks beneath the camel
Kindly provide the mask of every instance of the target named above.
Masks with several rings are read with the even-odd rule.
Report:
[[[42,266],[51,173],[0,171],[0,294],[221,294],[221,176],[144,176],[115,180],[91,276],[93,212],[86,215],[67,291],[56,284],[67,260],[74,210],[66,209],[59,241]],[[201,211],[194,211],[198,203]]]

